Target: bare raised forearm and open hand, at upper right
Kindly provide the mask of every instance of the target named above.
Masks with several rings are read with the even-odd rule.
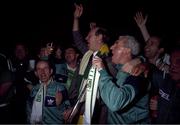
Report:
[[[150,34],[146,27],[147,18],[148,18],[147,15],[145,16],[145,18],[143,17],[142,12],[137,12],[136,15],[134,16],[134,20],[136,21],[136,24],[139,27],[145,42],[150,37]]]

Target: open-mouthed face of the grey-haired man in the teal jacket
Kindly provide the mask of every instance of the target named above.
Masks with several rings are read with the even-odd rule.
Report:
[[[125,64],[130,53],[129,48],[125,47],[126,39],[117,40],[111,47],[112,62],[115,64]]]

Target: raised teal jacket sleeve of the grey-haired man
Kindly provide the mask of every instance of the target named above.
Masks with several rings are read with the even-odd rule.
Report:
[[[100,71],[101,77],[99,82],[100,95],[104,103],[111,111],[123,109],[135,98],[135,89],[130,84],[118,87],[112,82],[112,77],[106,70]]]

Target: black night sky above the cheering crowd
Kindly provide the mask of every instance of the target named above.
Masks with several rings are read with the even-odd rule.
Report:
[[[170,47],[180,33],[180,7],[172,1],[15,1],[1,4],[1,50],[11,52],[16,42],[27,44],[32,53],[42,40],[71,44],[74,2],[84,5],[80,20],[83,35],[88,31],[88,23],[95,20],[111,31],[112,43],[120,34],[134,35],[141,41],[141,33],[133,19],[138,10],[148,14],[147,28],[150,34],[163,36]]]

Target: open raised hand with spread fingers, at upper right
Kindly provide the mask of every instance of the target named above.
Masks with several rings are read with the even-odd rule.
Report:
[[[143,26],[146,25],[148,15],[143,17],[142,12],[137,12],[136,15],[134,16],[134,20],[136,21],[136,24],[138,25],[139,28],[142,28]]]

